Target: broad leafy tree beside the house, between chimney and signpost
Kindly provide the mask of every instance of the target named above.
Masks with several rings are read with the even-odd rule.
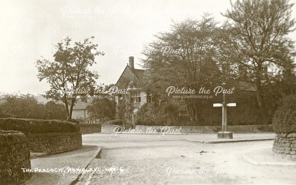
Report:
[[[167,100],[169,86],[198,90],[211,89],[221,84],[221,76],[215,61],[219,29],[213,18],[205,15],[202,20],[186,19],[173,22],[170,32],[155,35],[157,40],[146,46],[142,60],[144,68],[150,68],[142,87],[160,100]],[[192,120],[199,117],[202,101],[199,98],[183,98]]]

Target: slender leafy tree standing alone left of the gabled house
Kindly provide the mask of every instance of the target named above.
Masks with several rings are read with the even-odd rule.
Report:
[[[95,57],[104,55],[97,51],[98,45],[91,42],[93,38],[75,42],[71,47],[71,39],[66,37],[55,46],[57,51],[53,55],[54,61],[44,58],[36,61],[38,79],[47,80],[50,84],[50,90],[45,92],[44,97],[62,101],[67,110],[67,120],[72,118],[73,106],[79,95],[76,92],[79,89],[93,89],[95,80],[99,77],[97,72],[89,70],[89,66],[96,63]],[[83,96],[82,99],[85,100],[86,97]]]

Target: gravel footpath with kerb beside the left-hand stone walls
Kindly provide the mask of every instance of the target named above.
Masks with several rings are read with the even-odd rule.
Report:
[[[79,168],[88,164],[97,154],[98,146],[83,145],[80,149],[31,159],[31,169],[60,169],[65,166]],[[67,171],[67,170],[66,170]],[[33,172],[24,184],[70,184],[78,174],[57,172]]]

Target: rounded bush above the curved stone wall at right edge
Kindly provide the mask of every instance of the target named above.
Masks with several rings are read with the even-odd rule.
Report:
[[[286,96],[272,120],[276,133],[296,132],[296,95]]]

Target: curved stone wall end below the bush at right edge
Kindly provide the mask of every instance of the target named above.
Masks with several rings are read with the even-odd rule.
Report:
[[[296,160],[296,133],[277,134],[272,151],[282,158]]]

